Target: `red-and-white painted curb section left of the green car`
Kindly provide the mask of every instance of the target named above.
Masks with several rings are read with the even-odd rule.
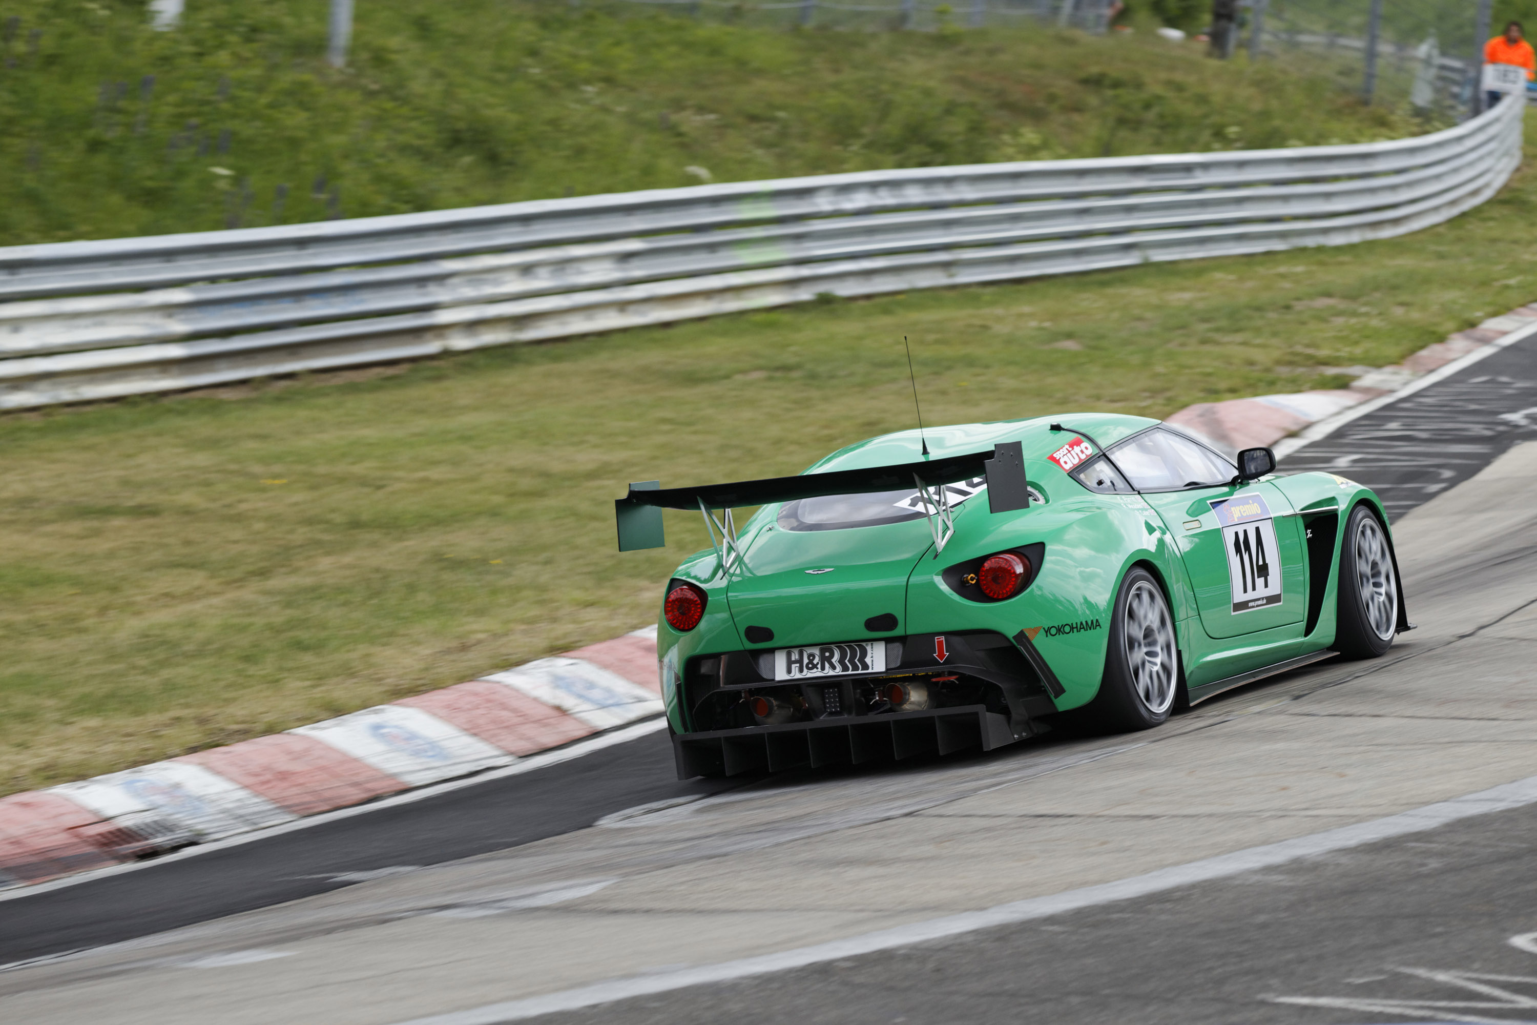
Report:
[[[0,887],[501,768],[662,710],[656,629],[483,679],[0,799]]]

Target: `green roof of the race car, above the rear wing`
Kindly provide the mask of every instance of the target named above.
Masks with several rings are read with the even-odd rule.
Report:
[[[1125,413],[1053,413],[1028,420],[925,427],[922,440],[928,443],[931,458],[981,452],[1001,441],[1021,441],[1027,459],[1044,459],[1073,436],[1085,432],[1100,446],[1113,446],[1157,423],[1148,416],[1128,416]],[[1051,424],[1062,424],[1062,433],[1051,430]],[[813,463],[805,472],[821,473],[916,463],[924,458],[921,453],[919,432],[915,427],[858,441]]]

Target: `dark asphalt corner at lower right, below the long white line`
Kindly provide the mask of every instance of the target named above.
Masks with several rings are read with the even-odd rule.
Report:
[[[812,965],[793,982],[758,976],[530,1020],[1532,1020],[1532,851],[1537,811],[1505,811],[1328,861]]]

